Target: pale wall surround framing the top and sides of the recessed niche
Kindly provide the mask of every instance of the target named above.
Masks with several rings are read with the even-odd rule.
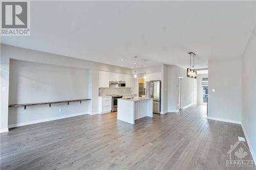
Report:
[[[101,64],[97,62],[80,60],[71,57],[65,57],[1,44],[1,132],[6,131],[8,127],[10,58],[44,64],[90,69],[88,80],[90,90],[88,96],[90,99],[92,99],[92,101],[89,104],[89,112],[91,114],[95,114],[98,112],[99,70],[131,74],[131,69],[128,68]],[[5,87],[7,88],[6,91],[3,90],[3,88]]]

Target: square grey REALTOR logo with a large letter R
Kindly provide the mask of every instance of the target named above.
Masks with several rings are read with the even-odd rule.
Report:
[[[1,2],[1,36],[30,35],[30,2]]]

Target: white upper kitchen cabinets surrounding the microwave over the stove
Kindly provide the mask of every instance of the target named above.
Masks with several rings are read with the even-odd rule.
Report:
[[[99,71],[99,88],[109,88],[110,81],[125,81],[125,87],[133,87],[132,75]]]

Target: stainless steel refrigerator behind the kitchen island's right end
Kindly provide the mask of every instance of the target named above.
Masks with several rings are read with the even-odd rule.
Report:
[[[153,98],[153,113],[161,111],[161,81],[146,82],[146,97]]]

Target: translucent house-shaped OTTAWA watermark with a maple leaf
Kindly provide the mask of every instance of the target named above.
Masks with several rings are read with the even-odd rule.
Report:
[[[250,150],[244,142],[238,140],[234,145],[230,145],[230,150],[227,152],[229,160],[226,160],[227,167],[253,167],[253,160],[248,158]]]

